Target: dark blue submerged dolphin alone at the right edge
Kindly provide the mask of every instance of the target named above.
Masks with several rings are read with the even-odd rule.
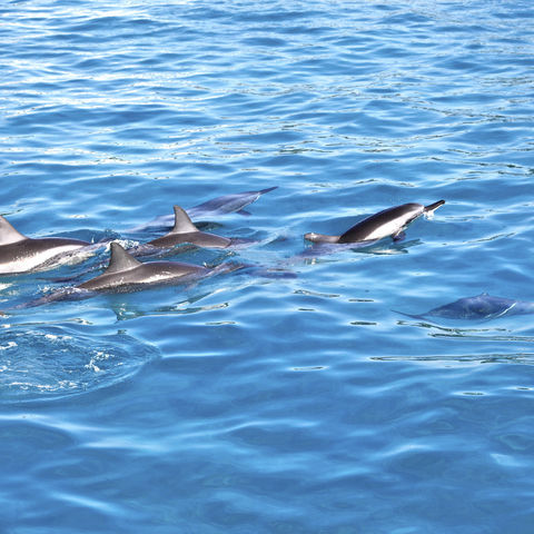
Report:
[[[400,313],[400,312],[399,312]],[[534,314],[534,303],[494,297],[481,293],[475,297],[464,297],[454,303],[433,308],[421,315],[402,314],[414,319],[443,317],[445,319],[496,319],[505,315]]]

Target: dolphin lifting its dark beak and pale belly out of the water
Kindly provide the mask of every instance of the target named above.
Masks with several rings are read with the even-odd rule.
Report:
[[[374,243],[384,237],[392,236],[394,241],[404,239],[404,229],[422,215],[429,216],[439,206],[443,206],[445,200],[438,200],[429,206],[422,204],[403,204],[378,211],[364,220],[360,220],[345,234],[340,236],[325,236],[323,234],[309,233],[304,237],[313,243],[334,243],[334,244],[349,244],[349,243]]]

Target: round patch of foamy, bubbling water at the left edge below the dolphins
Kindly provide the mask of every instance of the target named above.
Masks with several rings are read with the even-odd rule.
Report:
[[[0,403],[78,395],[127,380],[158,350],[126,334],[11,327],[0,343]]]

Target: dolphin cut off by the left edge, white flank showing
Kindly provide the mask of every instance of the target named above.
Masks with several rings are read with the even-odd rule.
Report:
[[[62,237],[30,238],[0,216],[0,274],[28,273],[66,253],[87,247],[80,239]]]

